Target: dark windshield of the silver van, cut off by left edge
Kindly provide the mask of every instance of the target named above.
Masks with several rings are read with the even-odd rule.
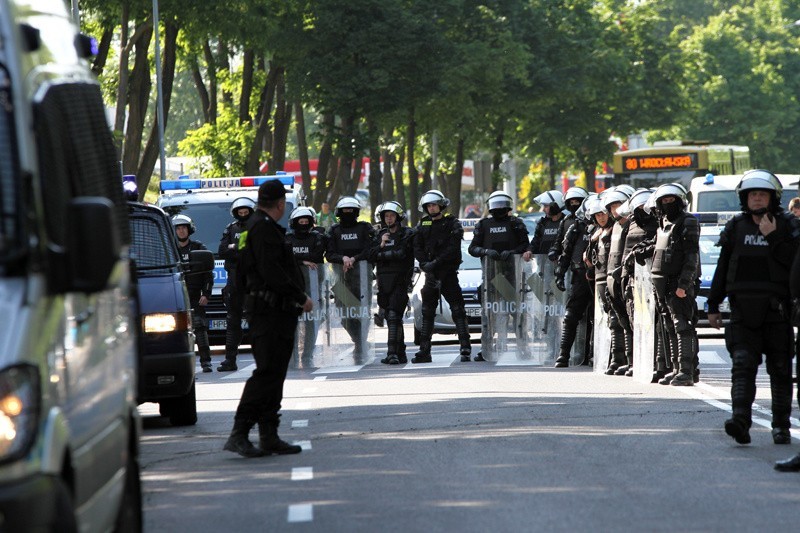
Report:
[[[0,99],[11,102],[8,73],[0,64]],[[17,171],[16,141],[14,137],[14,117],[11,106],[0,109],[0,265],[5,265],[22,255],[25,239],[20,220],[19,172]]]

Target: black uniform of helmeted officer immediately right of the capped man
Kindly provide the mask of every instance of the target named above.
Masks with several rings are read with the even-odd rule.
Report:
[[[295,259],[300,263],[300,271],[303,274],[303,281],[306,291],[318,297],[314,300],[314,310],[300,316],[298,321],[297,346],[295,347],[300,354],[300,361],[303,367],[310,366],[314,355],[317,342],[317,332],[319,331],[320,319],[324,316],[325,300],[327,294],[324,291],[325,267],[325,247],[327,237],[324,233],[315,231],[316,228],[308,227],[295,228],[294,231],[286,235],[286,240],[292,247]],[[311,268],[303,262],[313,263],[316,268]],[[311,285],[315,285],[319,290],[312,291]]]

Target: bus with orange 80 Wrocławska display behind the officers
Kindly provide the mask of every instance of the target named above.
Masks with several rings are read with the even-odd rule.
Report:
[[[616,152],[614,183],[633,187],[680,183],[689,190],[692,178],[708,173],[741,175],[751,168],[747,146],[661,141],[648,148]]]

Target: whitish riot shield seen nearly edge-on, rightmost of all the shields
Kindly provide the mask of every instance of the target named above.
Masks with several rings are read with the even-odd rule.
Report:
[[[650,383],[656,356],[656,297],[650,278],[652,261],[637,264],[633,282],[633,377]]]

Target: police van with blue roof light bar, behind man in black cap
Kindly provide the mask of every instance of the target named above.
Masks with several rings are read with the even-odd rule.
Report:
[[[234,221],[231,205],[237,198],[249,198],[256,202],[258,187],[271,179],[278,179],[286,189],[286,212],[278,223],[289,226],[289,214],[305,204],[302,187],[295,183],[294,176],[279,173],[273,176],[239,178],[191,179],[188,176],[161,182],[161,194],[156,205],[170,216],[184,214],[194,222],[196,231],[192,239],[202,242],[214,252],[214,288],[206,306],[208,340],[212,345],[225,344],[226,312],[222,289],[228,281],[225,262],[217,254],[220,238],[225,228]],[[247,323],[242,323],[247,328]]]

